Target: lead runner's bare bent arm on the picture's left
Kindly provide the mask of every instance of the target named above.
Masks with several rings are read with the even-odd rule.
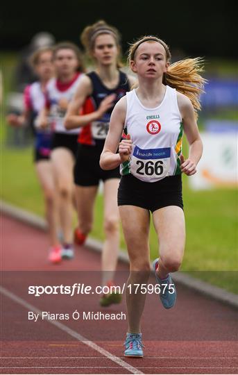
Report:
[[[112,111],[110,126],[103,152],[100,158],[100,167],[102,169],[114,169],[121,164],[121,157],[117,152],[121,134],[126,119],[126,97],[121,98]]]

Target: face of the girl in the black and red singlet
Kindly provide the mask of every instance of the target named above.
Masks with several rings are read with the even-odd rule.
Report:
[[[112,65],[117,62],[118,48],[116,41],[110,34],[96,37],[93,56],[102,65]]]

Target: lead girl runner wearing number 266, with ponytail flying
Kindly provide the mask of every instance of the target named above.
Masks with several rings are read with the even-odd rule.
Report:
[[[181,173],[191,176],[203,145],[196,124],[198,96],[204,79],[201,61],[187,59],[169,66],[171,54],[162,40],[144,37],[130,47],[130,67],[139,85],[115,106],[100,165],[121,164],[118,205],[130,258],[126,303],[127,357],[142,357],[141,317],[146,294],[133,293],[145,284],[150,272],[148,235],[150,211],[160,242],[160,258],[153,262],[164,308],[176,303],[170,272],[178,271],[185,247],[185,218]],[[124,129],[127,139],[122,140]],[[182,156],[182,133],[189,142],[189,157]],[[119,153],[117,147],[119,146]],[[130,294],[131,293],[131,294]]]

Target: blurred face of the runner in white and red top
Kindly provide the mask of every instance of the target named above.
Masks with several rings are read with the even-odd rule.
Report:
[[[58,76],[70,76],[78,67],[76,53],[72,49],[59,49],[54,58],[54,65]]]

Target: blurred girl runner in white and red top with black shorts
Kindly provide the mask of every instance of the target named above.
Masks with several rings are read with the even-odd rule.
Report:
[[[84,71],[81,53],[75,44],[62,42],[53,49],[53,64],[56,78],[46,87],[46,108],[40,114],[40,125],[47,126],[47,116],[51,116],[53,126],[53,140],[51,161],[56,179],[60,204],[60,220],[64,242],[62,244],[62,258],[74,257],[72,246],[72,217],[74,201],[73,168],[77,151],[79,129],[67,131],[63,124],[69,101],[76,88],[83,80]]]

